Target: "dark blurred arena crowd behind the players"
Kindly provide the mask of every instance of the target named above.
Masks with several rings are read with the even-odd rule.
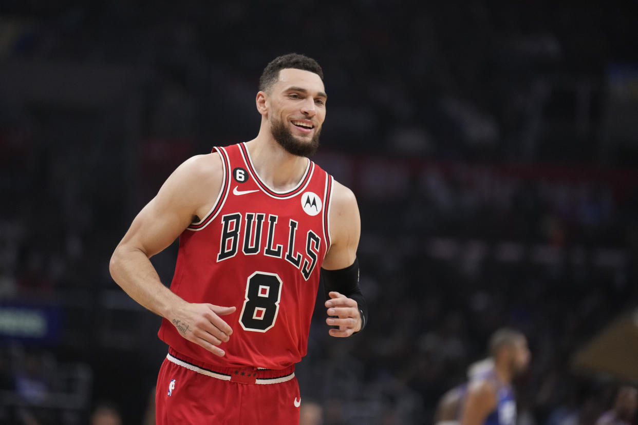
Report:
[[[432,423],[501,326],[530,341],[519,423],[594,424],[636,384],[574,367],[638,306],[629,9],[3,1],[0,423],[152,423],[159,318],[108,259],[178,164],[255,136],[258,76],[299,52],[325,73],[313,160],[357,195],[370,310],[338,340],[317,306],[306,424]],[[153,258],[167,284],[176,252]]]

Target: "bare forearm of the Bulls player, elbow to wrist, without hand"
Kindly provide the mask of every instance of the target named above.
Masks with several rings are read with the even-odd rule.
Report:
[[[131,298],[151,312],[170,320],[177,306],[186,303],[165,287],[149,258],[139,249],[119,245],[109,264],[111,277]]]

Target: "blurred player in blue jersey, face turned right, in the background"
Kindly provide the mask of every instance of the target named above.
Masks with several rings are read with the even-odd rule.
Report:
[[[514,425],[512,379],[527,368],[530,350],[519,331],[499,329],[489,340],[493,368],[470,380],[461,408],[461,425]]]

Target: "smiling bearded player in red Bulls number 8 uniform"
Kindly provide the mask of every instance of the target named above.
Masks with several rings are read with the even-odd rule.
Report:
[[[357,202],[307,158],[326,100],[316,61],[274,59],[260,78],[256,138],[184,162],[115,249],[115,282],[163,317],[158,424],[298,424],[294,368],[322,268],[330,335],[364,328]],[[178,236],[169,290],[149,257]]]

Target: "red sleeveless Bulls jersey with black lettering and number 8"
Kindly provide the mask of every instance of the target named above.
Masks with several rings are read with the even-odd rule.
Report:
[[[260,180],[244,143],[218,147],[221,192],[208,215],[179,238],[170,289],[191,303],[235,306],[218,357],[164,319],[159,338],[213,366],[281,369],[306,355],[323,257],[330,247],[332,176],[308,160],[285,193]]]

